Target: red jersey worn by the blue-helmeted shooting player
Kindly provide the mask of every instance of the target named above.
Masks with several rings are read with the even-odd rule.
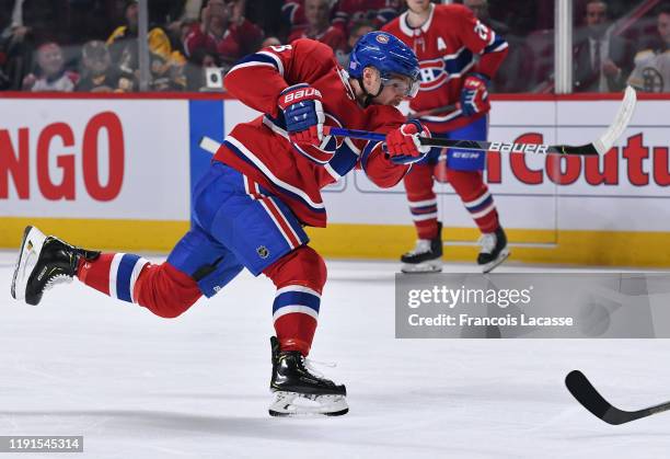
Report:
[[[277,99],[284,89],[302,82],[321,92],[327,125],[385,133],[404,123],[404,116],[393,106],[361,108],[333,50],[301,38],[247,56],[226,76],[228,91],[265,115],[235,126],[215,160],[270,190],[304,225],[325,227],[321,188],[355,168],[362,169],[378,186],[390,187],[409,168],[385,158],[381,142],[325,138],[320,148],[308,149],[291,144]]]

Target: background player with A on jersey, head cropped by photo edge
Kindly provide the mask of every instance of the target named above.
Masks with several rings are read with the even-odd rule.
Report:
[[[411,111],[436,137],[485,140],[488,130],[487,87],[507,55],[507,43],[461,4],[437,5],[406,0],[408,10],[383,27],[416,53],[420,90]],[[448,108],[449,107],[449,108]],[[423,116],[421,116],[423,115]],[[452,185],[480,228],[477,263],[487,273],[509,255],[493,196],[483,180],[485,152],[434,149],[404,179],[418,240],[401,257],[404,272],[441,271],[441,222],[434,181]]]

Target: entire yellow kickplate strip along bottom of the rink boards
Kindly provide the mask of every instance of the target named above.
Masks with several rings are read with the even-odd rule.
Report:
[[[18,249],[23,229],[38,227],[90,249],[168,253],[188,231],[188,221],[0,218],[0,248]],[[325,257],[397,260],[414,243],[414,227],[345,225],[308,228],[312,245]],[[577,230],[507,230],[510,260],[532,264],[670,267],[670,232],[605,232]],[[474,228],[444,228],[444,260],[473,263],[480,233]],[[472,242],[451,245],[449,242]],[[523,245],[523,243],[539,245]]]

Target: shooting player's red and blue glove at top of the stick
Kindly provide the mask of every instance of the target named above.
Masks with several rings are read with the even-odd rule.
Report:
[[[286,130],[292,142],[321,145],[325,116],[317,89],[308,83],[288,87],[279,94],[277,105],[284,112]]]

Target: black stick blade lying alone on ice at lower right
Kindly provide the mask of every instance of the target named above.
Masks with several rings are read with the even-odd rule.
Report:
[[[612,406],[579,370],[573,370],[565,377],[565,386],[584,408],[608,424],[625,424],[670,410],[670,402],[638,411],[623,411]]]

